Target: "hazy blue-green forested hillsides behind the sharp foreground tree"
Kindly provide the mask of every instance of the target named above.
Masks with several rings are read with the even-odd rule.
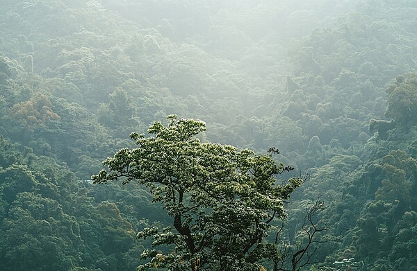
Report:
[[[305,177],[269,237],[319,199],[302,270],[417,269],[417,1],[0,3],[0,270],[143,266],[172,218],[91,176],[170,114]]]

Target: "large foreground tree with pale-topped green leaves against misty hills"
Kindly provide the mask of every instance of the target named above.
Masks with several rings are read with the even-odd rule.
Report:
[[[254,270],[259,261],[276,256],[265,241],[275,220],[286,216],[284,200],[302,183],[293,177],[282,185],[276,176],[292,168],[270,155],[234,146],[202,143],[195,136],[206,130],[203,121],[153,123],[149,134],[131,134],[138,148],[123,148],[104,161],[108,171],[92,176],[95,183],[137,180],[161,202],[173,226],[145,228],[138,238],[152,236],[166,252],[145,250],[148,259],[138,270]],[[275,149],[274,149],[275,150]],[[270,152],[271,154],[273,152]]]

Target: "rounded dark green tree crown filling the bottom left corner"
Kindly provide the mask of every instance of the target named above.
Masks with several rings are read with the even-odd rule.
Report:
[[[72,270],[81,264],[79,223],[56,200],[18,193],[0,231],[1,270]]]

